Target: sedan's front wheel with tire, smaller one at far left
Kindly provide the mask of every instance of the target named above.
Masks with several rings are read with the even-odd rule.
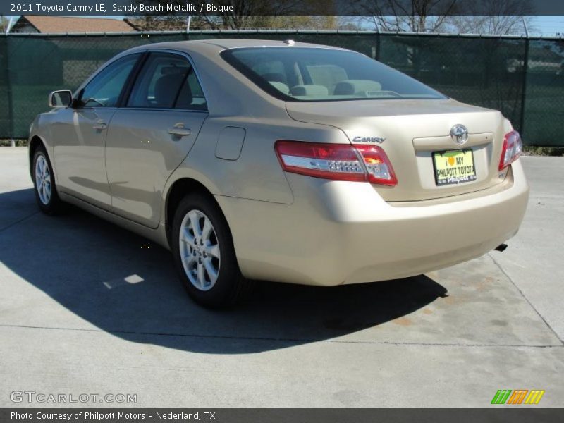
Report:
[[[35,200],[39,209],[45,214],[57,214],[61,211],[63,202],[57,194],[53,168],[43,146],[35,150],[32,166]]]

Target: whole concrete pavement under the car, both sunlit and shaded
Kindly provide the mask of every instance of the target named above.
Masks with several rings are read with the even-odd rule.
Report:
[[[26,152],[0,148],[0,407],[488,407],[498,389],[564,406],[562,158],[522,158],[531,198],[503,253],[358,286],[262,283],[210,312],[163,248],[39,213]]]

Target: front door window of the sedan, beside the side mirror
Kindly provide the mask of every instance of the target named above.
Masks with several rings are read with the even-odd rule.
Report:
[[[106,66],[82,92],[85,107],[115,107],[140,54],[130,54]]]

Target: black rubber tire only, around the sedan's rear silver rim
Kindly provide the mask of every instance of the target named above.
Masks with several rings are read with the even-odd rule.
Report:
[[[190,281],[181,257],[180,227],[182,226],[185,216],[188,216],[188,213],[193,211],[204,214],[200,222],[205,221],[205,218],[211,221],[213,226],[212,231],[214,233],[214,236],[212,236],[216,241],[216,245],[219,246],[219,254],[221,256],[217,264],[219,269],[216,272],[216,281],[212,285],[212,288],[208,288],[207,290],[197,288],[195,283]],[[187,217],[187,219],[189,218]],[[200,223],[200,226],[202,226],[202,223]],[[194,233],[193,230],[192,233]],[[194,236],[194,238],[197,238],[197,236]],[[214,200],[206,195],[200,193],[188,195],[178,204],[174,214],[171,244],[178,277],[186,290],[188,290],[190,297],[198,304],[208,308],[230,307],[242,300],[245,294],[250,290],[251,282],[247,281],[239,270],[237,258],[235,257],[235,248],[233,247],[233,238],[231,237],[231,231],[229,231],[227,221]],[[196,252],[193,246],[191,247],[186,243],[183,243],[183,245],[185,256],[187,256],[186,253],[188,251],[192,250],[195,256],[195,259],[192,259],[192,265],[197,266],[197,262],[194,260],[199,260],[200,258],[204,259],[198,256],[204,255],[204,250],[202,250],[202,252],[200,252],[200,250]],[[208,257],[212,256],[210,255]],[[200,262],[200,265],[202,265],[202,262]],[[195,269],[193,271],[195,271]],[[192,279],[196,277],[199,278],[199,276],[195,276],[195,274],[191,276]],[[209,280],[211,281],[211,277]],[[212,283],[209,282],[209,284],[211,285]]]

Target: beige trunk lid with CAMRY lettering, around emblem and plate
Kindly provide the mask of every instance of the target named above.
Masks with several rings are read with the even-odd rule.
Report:
[[[483,190],[503,180],[498,164],[505,130],[499,111],[453,99],[286,102],[286,110],[295,121],[331,125],[343,130],[353,144],[372,143],[384,149],[398,178],[393,188],[373,185],[386,201],[449,197]],[[450,137],[451,128],[459,124],[468,131],[463,145]],[[359,137],[365,139],[360,141]],[[374,137],[385,140],[366,140]],[[437,185],[433,152],[460,149],[472,150],[476,179]]]

